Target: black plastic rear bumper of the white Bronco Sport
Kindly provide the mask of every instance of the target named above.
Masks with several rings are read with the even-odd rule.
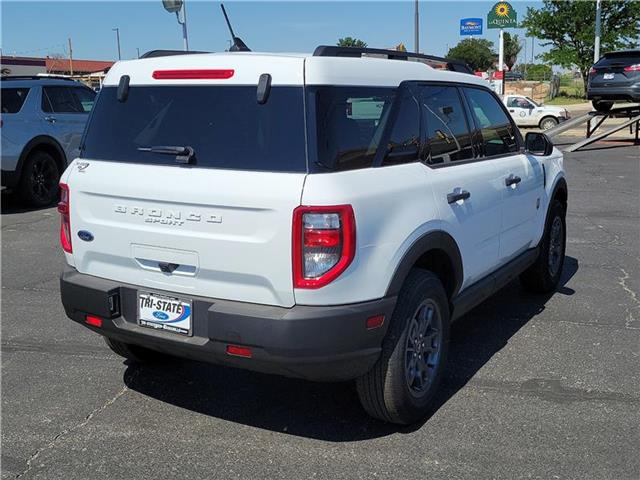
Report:
[[[71,267],[60,278],[67,316],[101,335],[193,360],[316,381],[349,380],[370,370],[396,302],[389,297],[283,308],[193,297],[193,336],[187,337],[138,325],[137,290]],[[87,325],[86,315],[102,318],[102,327]],[[377,315],[385,316],[384,324],[368,330],[366,319]],[[228,345],[251,347],[252,357],[231,356]]]

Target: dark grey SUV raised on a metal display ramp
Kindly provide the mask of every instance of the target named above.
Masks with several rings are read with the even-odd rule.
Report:
[[[614,102],[640,102],[640,50],[621,50],[604,55],[589,71],[587,98],[600,112]]]

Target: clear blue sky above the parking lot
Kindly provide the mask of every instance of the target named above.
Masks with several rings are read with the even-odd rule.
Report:
[[[459,20],[480,17],[486,22],[494,1],[420,2],[420,49],[444,55],[459,36]],[[518,18],[527,7],[541,2],[512,1]],[[310,52],[320,44],[333,45],[338,38],[354,36],[371,47],[391,47],[403,42],[413,49],[412,1],[234,1],[225,2],[236,35],[253,50]],[[120,29],[122,58],[158,48],[181,49],[182,30],[175,16],[160,0],[147,1],[2,1],[2,53],[4,55],[68,55],[79,59],[117,58],[115,32]],[[229,34],[219,1],[187,0],[189,43],[192,50],[228,48]],[[511,30],[524,36],[522,30]],[[483,38],[497,46],[498,30],[486,30]],[[531,40],[527,46],[531,56]],[[536,42],[535,52],[542,48]],[[521,53],[521,55],[524,52]]]

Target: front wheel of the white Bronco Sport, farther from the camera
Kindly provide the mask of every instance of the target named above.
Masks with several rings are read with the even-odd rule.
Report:
[[[567,245],[567,224],[564,205],[554,200],[549,211],[549,218],[545,226],[544,235],[540,242],[540,254],[536,262],[520,275],[522,286],[533,293],[549,293],[556,289]],[[559,238],[556,239],[555,229],[560,228]],[[559,243],[556,243],[556,240]]]

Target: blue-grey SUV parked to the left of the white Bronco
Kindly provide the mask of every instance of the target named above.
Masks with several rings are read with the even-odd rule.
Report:
[[[96,93],[74,80],[2,77],[2,186],[34,207],[53,203]]]

